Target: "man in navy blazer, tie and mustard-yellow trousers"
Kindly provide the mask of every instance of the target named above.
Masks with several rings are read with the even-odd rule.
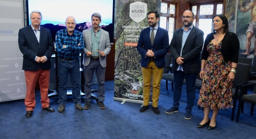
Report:
[[[140,33],[137,50],[141,54],[141,66],[143,76],[143,106],[140,112],[148,109],[151,88],[151,77],[153,77],[152,108],[155,114],[160,111],[157,108],[160,94],[160,82],[165,65],[164,56],[169,48],[168,32],[158,26],[160,14],[157,11],[148,13],[148,28]]]

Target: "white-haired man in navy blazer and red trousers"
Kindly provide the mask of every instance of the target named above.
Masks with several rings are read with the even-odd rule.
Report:
[[[36,106],[35,86],[39,79],[42,109],[54,112],[49,105],[48,98],[51,55],[54,51],[51,32],[40,26],[42,14],[32,11],[30,14],[31,25],[19,30],[19,48],[23,54],[23,66],[27,92],[25,98],[26,117],[31,117]]]

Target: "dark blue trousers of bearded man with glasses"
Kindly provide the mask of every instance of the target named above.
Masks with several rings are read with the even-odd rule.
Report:
[[[173,106],[175,108],[179,107],[179,101],[182,94],[183,80],[186,80],[186,90],[187,90],[187,107],[186,111],[191,112],[194,100],[195,100],[195,80],[197,79],[197,74],[185,73],[183,71],[174,71],[174,91],[173,91]]]

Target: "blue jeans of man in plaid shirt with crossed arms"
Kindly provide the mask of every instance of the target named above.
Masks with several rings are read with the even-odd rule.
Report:
[[[81,94],[79,87],[80,66],[78,57],[74,60],[64,60],[58,58],[59,73],[59,104],[66,104],[67,100],[67,77],[70,75],[72,86],[72,99],[74,104],[81,103]]]

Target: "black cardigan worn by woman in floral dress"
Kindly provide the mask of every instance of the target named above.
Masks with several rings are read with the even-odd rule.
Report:
[[[205,39],[201,59],[206,60],[209,56],[209,52],[207,51],[207,46],[214,39],[213,34],[214,33],[208,34]],[[239,48],[240,48],[240,44],[236,34],[233,32],[226,32],[221,42],[221,52],[222,52],[224,61],[228,62],[231,60],[231,62],[237,63]]]

